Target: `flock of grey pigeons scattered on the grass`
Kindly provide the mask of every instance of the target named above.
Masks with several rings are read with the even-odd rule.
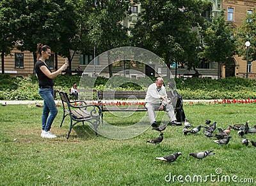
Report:
[[[249,121],[248,121],[249,122]],[[227,129],[221,129],[220,127],[218,128],[218,133],[214,133],[216,129],[216,123],[213,122],[211,124],[211,120],[205,120],[205,126],[203,125],[198,125],[198,127],[194,127],[188,122],[188,120],[185,118],[184,122],[184,128],[182,129],[182,132],[184,135],[188,134],[194,134],[200,132],[202,128],[204,128],[204,135],[207,136],[207,138],[216,138],[217,140],[213,140],[214,143],[218,143],[219,145],[227,145],[231,136],[230,134],[230,129],[234,129],[237,131],[237,135],[242,138],[242,144],[248,146],[249,142],[252,143],[254,147],[256,147],[256,141],[248,140],[247,138],[244,137],[244,134],[248,133],[256,133],[256,125],[254,127],[249,127],[248,122],[244,124],[236,124],[236,125],[229,125]],[[147,143],[153,143],[155,145],[161,143],[163,141],[163,132],[166,129],[166,126],[168,124],[160,125],[159,127],[153,127],[152,130],[156,130],[160,132],[160,135],[157,138],[154,138],[152,140],[148,140]],[[191,128],[191,129],[190,129]],[[205,157],[209,155],[214,155],[215,153],[212,152],[213,150],[206,150],[204,152],[196,152],[196,153],[190,153],[192,157],[195,157],[197,159],[204,159]],[[176,159],[181,155],[181,152],[177,152],[175,154],[170,154],[170,155],[164,155],[163,157],[156,157],[157,160],[169,162],[172,164],[172,162],[176,161]]]

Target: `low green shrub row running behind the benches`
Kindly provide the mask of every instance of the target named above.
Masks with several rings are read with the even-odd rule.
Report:
[[[152,78],[154,80],[154,78]],[[138,80],[124,77],[81,78],[79,76],[58,76],[54,79],[55,89],[68,91],[73,83],[93,82],[94,89],[145,90],[152,83],[148,78]],[[124,82],[124,83],[122,83]],[[256,80],[246,78],[209,78],[175,79],[176,88],[184,99],[256,99]],[[86,84],[86,83],[85,83]],[[105,86],[107,85],[107,87]],[[92,87],[83,87],[92,88]],[[38,100],[38,80],[36,76],[24,78],[0,75],[0,100]]]

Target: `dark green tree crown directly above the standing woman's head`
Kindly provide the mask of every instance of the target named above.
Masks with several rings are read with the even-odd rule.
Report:
[[[63,57],[70,57],[72,40],[77,32],[74,3],[65,0],[17,0],[17,3],[20,50],[35,54],[36,43],[43,43]]]

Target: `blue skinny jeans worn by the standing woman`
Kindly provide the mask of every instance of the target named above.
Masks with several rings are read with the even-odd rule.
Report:
[[[54,118],[58,114],[58,109],[56,107],[53,97],[54,90],[39,88],[39,94],[44,99],[44,108],[42,114],[42,130],[49,131],[51,129],[51,125]]]

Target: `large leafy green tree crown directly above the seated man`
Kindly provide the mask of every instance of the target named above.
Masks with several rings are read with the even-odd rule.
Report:
[[[202,1],[141,0],[138,23],[132,30],[135,45],[147,48],[164,59],[170,67],[173,61],[188,68],[198,66],[198,25],[204,28],[201,13],[208,3]]]

